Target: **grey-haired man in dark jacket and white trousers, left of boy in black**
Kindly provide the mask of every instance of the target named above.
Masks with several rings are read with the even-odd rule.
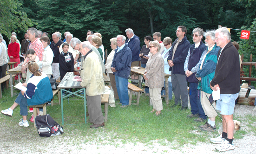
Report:
[[[56,80],[59,78],[59,46],[64,43],[60,38],[61,34],[54,32],[53,41],[50,45],[54,55],[52,64],[53,77],[56,78]]]

